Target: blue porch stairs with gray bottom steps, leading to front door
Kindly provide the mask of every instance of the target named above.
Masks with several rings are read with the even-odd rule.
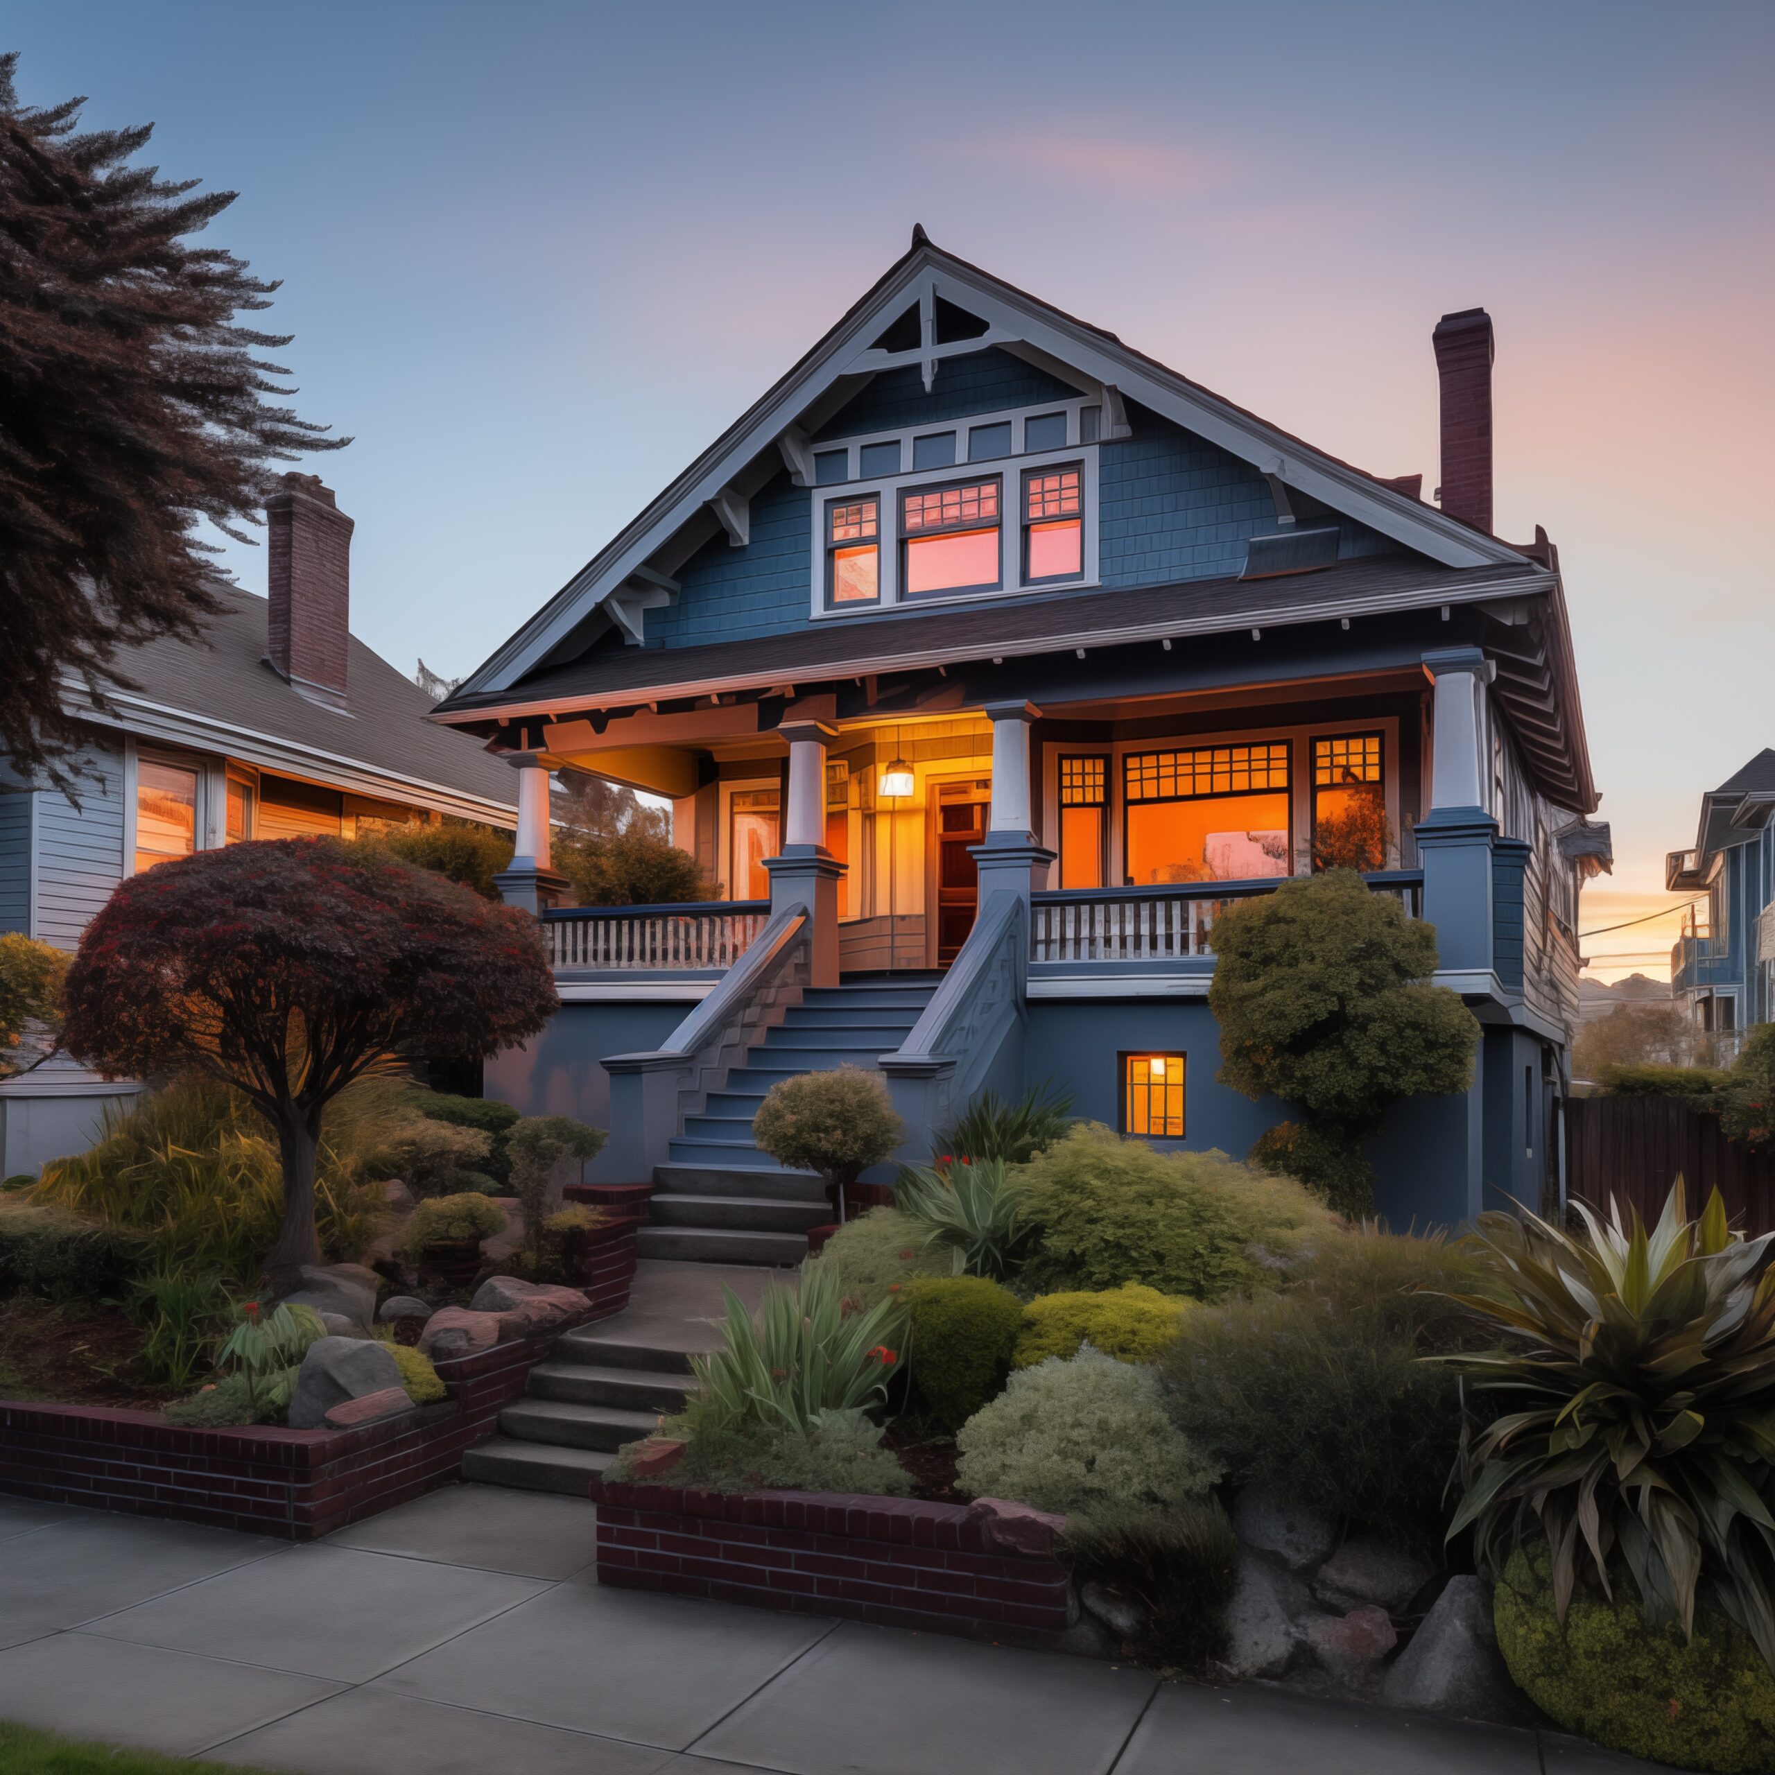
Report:
[[[643,1257],[703,1264],[799,1264],[808,1230],[832,1218],[825,1186],[753,1145],[753,1116],[777,1079],[843,1065],[875,1069],[923,1015],[937,976],[850,980],[809,987],[783,1022],[746,1054],[703,1109],[687,1116],[653,1173]]]

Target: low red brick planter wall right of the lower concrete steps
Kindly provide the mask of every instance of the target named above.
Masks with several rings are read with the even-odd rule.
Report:
[[[955,1503],[595,1484],[598,1582],[895,1628],[1042,1642],[1072,1622],[1053,1555],[996,1544]]]

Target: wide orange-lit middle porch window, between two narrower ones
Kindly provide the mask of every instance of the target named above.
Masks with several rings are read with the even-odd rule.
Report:
[[[1124,760],[1131,886],[1289,875],[1289,744],[1202,746]]]

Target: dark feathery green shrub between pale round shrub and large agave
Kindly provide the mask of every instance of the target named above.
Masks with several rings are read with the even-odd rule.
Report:
[[[1447,1298],[1479,1276],[1477,1258],[1441,1239],[1321,1235],[1282,1294],[1184,1317],[1161,1358],[1172,1416],[1235,1484],[1434,1553],[1461,1390],[1420,1358],[1489,1347]]]

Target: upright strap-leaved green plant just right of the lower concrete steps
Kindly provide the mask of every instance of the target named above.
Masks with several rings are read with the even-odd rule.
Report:
[[[721,1292],[722,1347],[690,1358],[696,1404],[717,1425],[754,1422],[806,1434],[822,1411],[859,1411],[888,1392],[900,1361],[898,1301],[847,1310],[818,1266],[804,1269],[793,1289],[765,1283],[756,1315],[731,1289]]]

